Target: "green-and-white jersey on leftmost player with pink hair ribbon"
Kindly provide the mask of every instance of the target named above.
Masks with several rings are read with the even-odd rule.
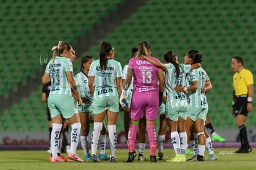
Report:
[[[67,81],[66,72],[73,71],[72,61],[66,57],[56,56],[54,62],[49,61],[45,72],[51,77],[51,91],[49,95],[70,94],[71,89]]]

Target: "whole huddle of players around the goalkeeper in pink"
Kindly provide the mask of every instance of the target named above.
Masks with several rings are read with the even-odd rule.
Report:
[[[43,84],[51,81],[47,100],[53,123],[49,161],[116,162],[116,123],[119,111],[124,111],[124,129],[129,148],[126,162],[133,162],[137,156],[135,141],[138,126],[140,161],[147,160],[144,157],[146,130],[150,144],[150,162],[164,160],[163,144],[167,126],[171,132],[175,156],[166,162],[204,161],[205,148],[208,151],[207,160],[218,159],[213,152],[211,139],[219,142],[224,142],[225,139],[216,134],[207,117],[206,94],[212,86],[200,64],[202,54],[197,50],[187,51],[184,63],[179,63],[173,51],[167,51],[164,63],[161,63],[157,58],[151,57],[148,42],[139,42],[138,47],[132,48],[129,64],[122,69],[121,63],[114,60],[114,47],[103,41],[100,59],[93,60],[88,55],[83,57],[80,72],[75,76],[72,68],[75,51],[72,46],[59,41],[58,46],[54,46],[52,50],[53,58],[42,77]],[[158,115],[160,129],[156,136]],[[105,116],[108,119],[107,127],[104,123]],[[72,127],[68,158],[59,151],[59,135],[64,119]],[[90,123],[93,123],[93,131],[89,140]],[[210,129],[212,138],[205,131],[205,126]],[[107,129],[109,156],[105,153]],[[187,159],[187,148],[191,140],[193,156]],[[84,159],[76,154],[79,141]]]

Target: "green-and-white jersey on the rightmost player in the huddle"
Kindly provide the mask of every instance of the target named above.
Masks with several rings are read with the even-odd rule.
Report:
[[[205,86],[206,81],[206,72],[203,70],[202,67],[194,69],[189,72],[189,76],[187,76],[187,86],[192,84],[192,81],[197,81],[198,87],[196,91],[188,91],[187,98],[189,107],[196,107],[196,108],[207,108],[207,99],[205,93],[201,92],[202,87]]]

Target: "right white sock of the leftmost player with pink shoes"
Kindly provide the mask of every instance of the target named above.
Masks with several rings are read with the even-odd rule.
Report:
[[[73,123],[71,124],[71,133],[70,133],[70,153],[75,154],[77,150],[77,145],[79,144],[79,136],[81,131],[81,123]]]

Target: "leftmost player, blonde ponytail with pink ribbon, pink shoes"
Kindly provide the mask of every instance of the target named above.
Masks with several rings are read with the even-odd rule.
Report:
[[[82,103],[77,84],[73,77],[72,61],[73,48],[67,42],[59,41],[58,46],[53,47],[53,58],[46,66],[45,74],[42,77],[42,83],[51,81],[51,92],[48,97],[48,107],[51,112],[53,130],[51,132],[51,153],[49,161],[64,161],[58,154],[59,133],[63,123],[63,118],[68,119],[71,124],[71,144],[70,152],[67,155],[71,160],[83,161],[75,154],[80,136],[80,118],[75,113],[75,101],[71,95],[74,92],[79,105]]]

